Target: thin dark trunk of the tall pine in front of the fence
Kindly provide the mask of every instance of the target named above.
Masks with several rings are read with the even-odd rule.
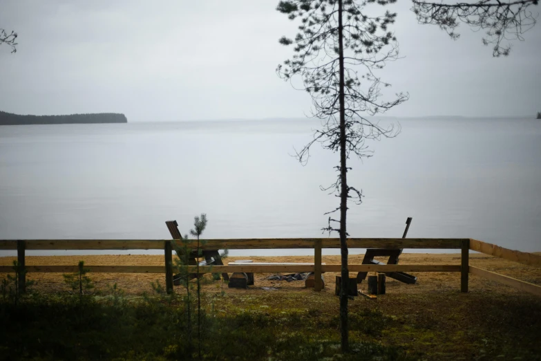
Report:
[[[348,271],[348,243],[346,243],[345,220],[348,211],[348,169],[345,165],[345,101],[344,101],[344,53],[343,53],[343,24],[342,24],[342,0],[338,1],[338,42],[339,42],[339,101],[340,101],[340,255],[342,287],[340,291],[340,332],[342,352],[350,349],[348,340],[348,283],[350,272]]]

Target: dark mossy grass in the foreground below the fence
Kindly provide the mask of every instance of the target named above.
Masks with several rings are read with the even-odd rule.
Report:
[[[182,295],[26,295],[0,302],[0,360],[190,360]],[[541,360],[541,300],[431,292],[350,302],[339,352],[331,294],[205,295],[204,360]],[[196,335],[192,335],[195,340]],[[195,343],[192,343],[195,344]]]

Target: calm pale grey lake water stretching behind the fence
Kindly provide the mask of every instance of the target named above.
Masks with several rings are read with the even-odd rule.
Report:
[[[410,237],[541,250],[540,121],[400,123],[397,138],[372,143],[372,158],[350,163],[350,182],[365,194],[350,207],[352,237],[401,237],[412,216]],[[323,213],[338,198],[319,185],[334,180],[338,155],[316,145],[305,167],[290,156],[316,125],[0,127],[0,239],[169,239],[164,221],[176,219],[184,234],[201,212],[209,217],[207,238],[326,237]]]

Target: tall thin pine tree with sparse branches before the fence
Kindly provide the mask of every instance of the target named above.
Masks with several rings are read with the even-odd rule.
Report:
[[[396,0],[378,0],[387,6]],[[339,212],[339,219],[329,216],[323,230],[338,232],[341,246],[342,286],[340,293],[340,326],[342,351],[348,344],[348,232],[346,216],[348,198],[361,203],[362,191],[348,184],[347,160],[351,155],[370,156],[366,140],[394,137],[399,129],[381,127],[367,115],[383,113],[408,99],[397,93],[390,101],[381,101],[381,89],[390,86],[382,82],[377,71],[388,61],[397,59],[398,45],[395,35],[388,29],[396,14],[388,10],[381,16],[365,12],[374,0],[291,0],[280,1],[277,10],[289,19],[300,19],[294,39],[282,37],[280,43],[294,46],[294,55],[277,68],[284,80],[300,77],[303,89],[312,97],[312,115],[321,120],[321,129],[314,139],[297,153],[305,163],[310,147],[321,142],[323,148],[339,152],[339,173],[330,190],[340,198],[340,205],[328,212]],[[359,75],[359,72],[365,73]],[[338,224],[338,226],[336,226]]]

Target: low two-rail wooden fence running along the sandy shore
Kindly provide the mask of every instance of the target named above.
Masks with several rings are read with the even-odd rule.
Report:
[[[85,266],[91,272],[104,273],[165,273],[167,292],[173,290],[173,265],[171,240],[151,239],[27,239],[0,240],[0,250],[17,250],[17,259],[27,272],[77,272],[77,266],[26,266],[26,250],[164,250],[164,266]],[[192,245],[193,246],[193,245]],[[322,288],[321,272],[340,272],[339,264],[322,264],[323,248],[340,248],[340,240],[336,238],[314,239],[209,239],[204,246],[206,250],[254,250],[254,249],[314,249],[313,265],[231,265],[201,266],[200,273],[208,272],[314,272],[314,290]],[[541,256],[515,250],[508,250],[490,243],[475,239],[415,239],[415,238],[350,238],[348,248],[412,248],[412,249],[456,249],[461,250],[460,265],[374,265],[351,264],[350,272],[460,272],[460,290],[468,292],[468,274],[479,275],[493,281],[520,288],[521,290],[541,296],[541,286],[499,275],[487,270],[469,266],[469,250],[491,254],[502,259],[509,259],[529,266],[541,267]],[[12,272],[12,266],[0,266],[0,273]],[[195,267],[189,272],[195,273]],[[19,275],[19,286],[24,290],[24,272]]]

